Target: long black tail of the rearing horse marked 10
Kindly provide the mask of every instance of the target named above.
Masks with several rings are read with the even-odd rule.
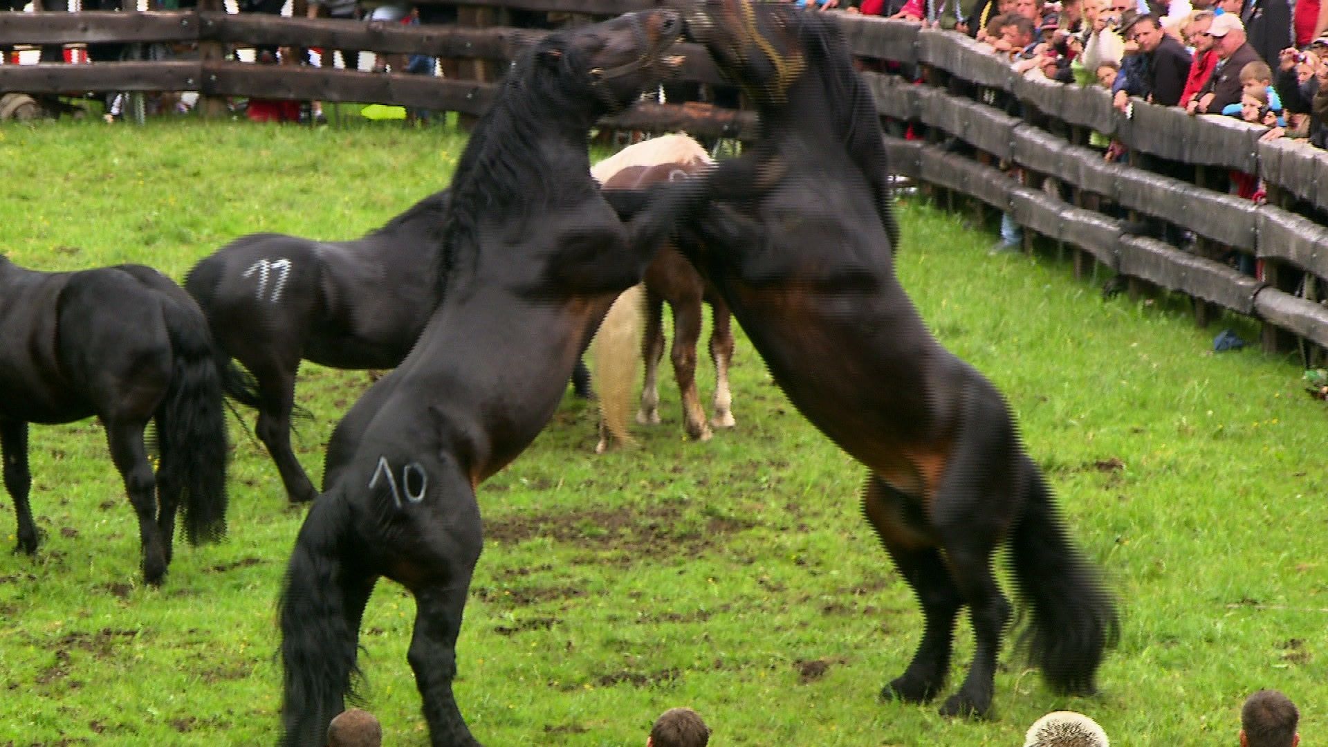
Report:
[[[282,629],[282,747],[321,747],[328,723],[353,695],[356,631],[347,615],[341,549],[351,506],[333,489],[313,502],[295,540],[279,602]]]

